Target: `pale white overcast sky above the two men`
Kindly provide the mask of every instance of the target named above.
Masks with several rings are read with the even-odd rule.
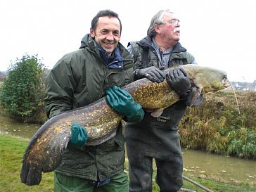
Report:
[[[0,71],[25,53],[47,68],[79,48],[101,9],[120,15],[121,43],[146,36],[151,18],[169,8],[181,20],[181,44],[198,65],[225,70],[230,81],[256,79],[256,6],[253,0],[1,0]]]

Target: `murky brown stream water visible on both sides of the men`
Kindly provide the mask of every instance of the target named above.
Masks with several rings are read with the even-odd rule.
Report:
[[[38,124],[15,122],[0,115],[0,132],[32,138]],[[215,179],[217,181],[256,184],[256,161],[209,154],[202,151],[183,150],[186,175]]]

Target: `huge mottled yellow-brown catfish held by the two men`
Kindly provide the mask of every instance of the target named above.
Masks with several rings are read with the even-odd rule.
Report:
[[[181,65],[188,73],[193,87],[194,101],[200,94],[219,91],[229,86],[226,72],[200,65]],[[164,72],[169,72],[167,68]],[[142,108],[158,111],[179,101],[179,95],[166,82],[155,83],[143,78],[122,87]],[[61,161],[61,153],[68,146],[72,123],[87,130],[87,146],[101,144],[115,136],[117,125],[124,116],[108,105],[105,97],[82,108],[69,110],[48,120],[34,134],[23,156],[20,179],[29,186],[41,181],[41,172],[52,172]]]

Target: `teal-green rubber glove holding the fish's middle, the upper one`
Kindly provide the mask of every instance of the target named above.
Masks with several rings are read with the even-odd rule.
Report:
[[[140,122],[144,117],[144,111],[134,98],[120,87],[114,86],[106,91],[108,104],[117,113],[127,117],[128,122]]]

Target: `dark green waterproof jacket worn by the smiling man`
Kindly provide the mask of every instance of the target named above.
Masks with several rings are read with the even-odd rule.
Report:
[[[122,44],[117,47],[124,58],[123,68],[120,69],[107,68],[98,45],[89,34],[82,39],[79,50],[58,60],[46,79],[45,105],[49,118],[98,100],[113,85],[122,87],[132,82],[132,57]],[[101,145],[65,149],[56,172],[103,181],[123,170],[124,138],[119,124],[116,136]]]

